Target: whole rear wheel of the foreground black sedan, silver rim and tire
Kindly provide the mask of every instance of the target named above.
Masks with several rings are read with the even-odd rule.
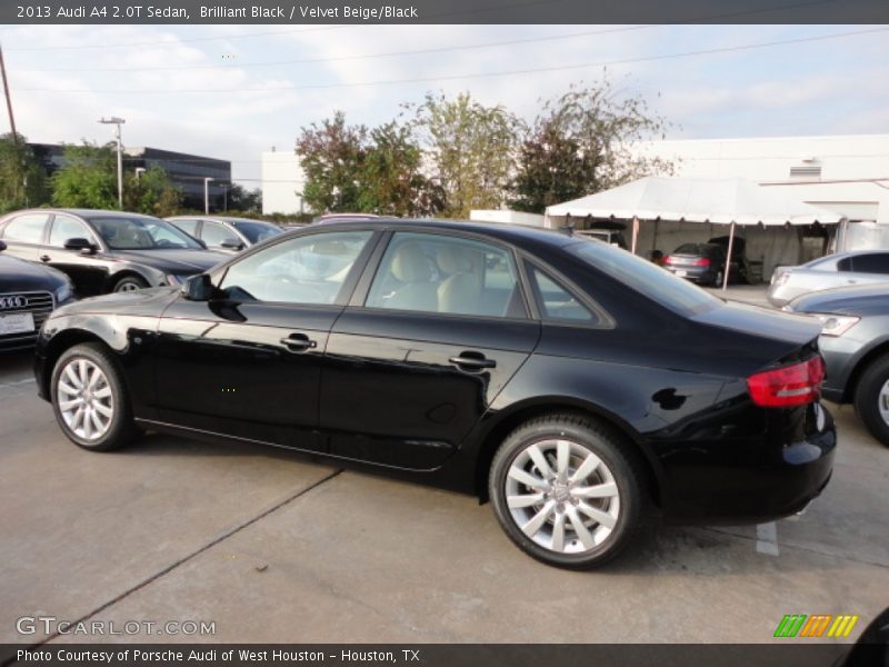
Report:
[[[571,569],[617,556],[638,528],[643,474],[603,425],[552,415],[515,430],[495,455],[489,494],[506,534],[533,558]]]

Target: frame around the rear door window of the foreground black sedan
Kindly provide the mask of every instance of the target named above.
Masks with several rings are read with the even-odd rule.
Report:
[[[408,310],[404,308],[376,308],[366,306],[367,299],[370,296],[370,288],[373,285],[373,281],[377,279],[377,273],[379,272],[380,268],[382,267],[382,259],[386,256],[386,251],[389,249],[389,246],[392,242],[392,239],[397,233],[422,233],[427,236],[437,236],[437,237],[453,237],[457,239],[462,240],[470,240],[480,243],[486,243],[489,246],[495,246],[501,250],[505,250],[512,257],[512,263],[516,268],[516,283],[519,287],[519,293],[521,295],[522,307],[525,309],[525,317],[506,317],[506,316],[496,316],[496,315],[472,315],[472,313],[465,313],[465,312],[432,312],[429,310]],[[361,275],[361,279],[359,280],[359,285],[356,287],[354,292],[352,293],[352,298],[349,300],[348,307],[350,309],[361,309],[362,311],[368,312],[386,312],[389,315],[416,315],[416,316],[424,316],[424,317],[444,317],[450,319],[473,319],[473,320],[485,320],[485,321],[495,321],[495,322],[527,322],[533,321],[533,312],[529,307],[530,300],[528,299],[528,285],[523,279],[522,270],[521,270],[521,257],[517,252],[517,249],[500,239],[492,239],[491,237],[475,233],[471,231],[460,231],[453,229],[430,229],[430,228],[412,228],[412,229],[399,229],[388,227],[382,231],[382,236],[380,238],[380,242],[377,246],[377,249],[373,256],[368,260],[367,266],[364,267],[364,271]]]

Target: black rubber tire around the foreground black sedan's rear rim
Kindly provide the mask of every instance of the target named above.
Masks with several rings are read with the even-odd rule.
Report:
[[[557,489],[556,481],[552,481],[550,484],[549,494],[543,494],[545,499],[538,505],[521,508],[509,507],[507,500],[508,486],[516,486],[518,484],[521,489],[519,494],[536,495],[536,489],[530,486],[522,486],[521,482],[517,482],[515,478],[510,476],[513,464],[519,468],[519,471],[526,469],[531,474],[546,477],[546,474],[541,474],[540,468],[530,461],[529,457],[533,457],[529,454],[529,448],[537,445],[538,451],[541,451],[545,450],[546,447],[549,447],[549,444],[555,440],[562,440],[571,444],[571,460],[580,460],[580,458],[573,458],[575,451],[579,452],[579,457],[583,459],[587,458],[587,455],[582,454],[583,450],[598,457],[600,464],[605,465],[605,470],[602,470],[601,465],[597,466],[592,476],[599,476],[598,481],[593,481],[591,485],[588,482],[586,486],[587,488],[591,488],[592,486],[606,482],[616,485],[617,506],[611,505],[615,501],[613,498],[607,500],[605,498],[586,498],[578,500],[577,498],[570,497],[568,500],[563,500],[566,494],[563,490],[565,487],[561,487],[562,490]],[[577,445],[579,449],[575,450],[575,445]],[[558,442],[556,447],[558,448]],[[547,455],[546,458],[550,465],[555,464],[555,460],[550,459],[549,455]],[[529,462],[531,462],[530,468],[528,467]],[[580,466],[575,465],[573,468],[570,468],[570,470],[573,471],[571,475],[577,472],[579,467]],[[558,465],[556,465],[555,469],[550,468],[549,471],[558,475]],[[607,477],[605,472],[608,474]],[[587,479],[589,479],[589,476],[585,476],[583,480]],[[643,467],[638,459],[637,452],[629,449],[628,444],[609,427],[577,415],[550,415],[528,421],[512,431],[506,440],[503,440],[503,444],[497,450],[493,461],[491,462],[488,477],[488,491],[491,504],[493,505],[495,515],[500,521],[501,528],[509,538],[529,556],[547,565],[557,567],[590,569],[611,560],[631,542],[637,529],[642,522],[647,509],[645,479]],[[558,495],[557,491],[561,495]],[[538,492],[537,495],[540,494]],[[522,495],[519,497],[523,498]],[[590,519],[587,515],[579,514],[587,510],[581,509],[578,504],[586,502],[589,506],[590,501],[592,501],[593,505],[600,502],[598,509],[609,514],[609,516],[616,514],[616,518],[612,517],[609,519],[615,521],[613,527],[609,528],[605,524]],[[550,511],[552,519],[547,519],[547,522],[542,524],[540,530],[529,537],[519,527],[519,520],[528,518],[528,521],[525,524],[526,528],[528,528],[532,524],[532,518],[530,518],[532,515],[535,515],[533,518],[536,518],[547,511],[545,504],[555,506],[556,509]],[[569,504],[575,506],[573,509]],[[541,508],[541,506],[543,507]],[[580,518],[581,522],[582,520],[592,521],[591,525],[593,527],[591,532],[589,530],[587,531],[588,539],[589,537],[600,536],[602,532],[608,531],[607,536],[603,537],[601,541],[588,547],[583,539],[581,539],[580,532],[576,530],[576,519],[571,517],[571,514],[573,514],[575,518]],[[517,517],[516,515],[519,516]],[[555,549],[557,544],[557,521],[560,521],[562,526],[565,526],[560,531],[563,545],[561,550]],[[589,526],[585,528],[589,528]],[[549,535],[547,535],[547,530],[549,530]],[[571,535],[573,535],[573,539]],[[539,541],[546,541],[547,539],[550,542],[549,546],[543,546]],[[577,551],[568,552],[568,549],[576,549]]]

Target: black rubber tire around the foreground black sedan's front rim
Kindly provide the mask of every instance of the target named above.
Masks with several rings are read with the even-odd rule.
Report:
[[[110,418],[108,418],[107,430],[101,434],[101,436],[93,438],[83,437],[83,435],[77,434],[71,425],[69,425],[69,422],[66,420],[66,416],[60,409],[60,396],[62,395],[60,394],[59,384],[62,379],[62,374],[66,372],[66,368],[68,368],[69,365],[77,361],[86,361],[88,365],[91,364],[97,367],[106,380],[103,384],[100,384],[99,387],[102,389],[104,387],[110,389],[109,405],[111,407],[112,415]],[[72,366],[72,371],[74,368],[76,366]],[[68,381],[69,380],[66,379],[66,382]],[[74,445],[82,447],[83,449],[89,449],[90,451],[111,451],[112,449],[118,449],[124,445],[129,445],[139,435],[139,430],[133,424],[132,408],[130,406],[127,386],[123,382],[123,378],[118,369],[117,362],[111,357],[111,354],[107,350],[107,348],[104,348],[104,346],[101,344],[84,342],[66,350],[62,356],[59,357],[59,360],[56,362],[56,366],[52,369],[52,381],[50,387],[52,397],[52,411],[56,415],[56,421],[59,424],[62,432],[64,432],[64,435],[68,436],[68,439],[70,439]]]

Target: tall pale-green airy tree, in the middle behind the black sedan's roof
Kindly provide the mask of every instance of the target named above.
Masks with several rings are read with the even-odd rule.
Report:
[[[516,116],[485,107],[468,92],[455,99],[428,93],[414,123],[447,195],[446,216],[466,218],[470,209],[503,203],[522,127]]]

